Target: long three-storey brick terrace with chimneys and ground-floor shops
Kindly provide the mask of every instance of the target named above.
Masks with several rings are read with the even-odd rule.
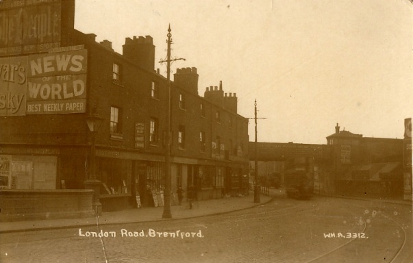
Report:
[[[164,189],[168,105],[167,80],[154,69],[153,40],[126,38],[123,55],[116,53],[108,40],[98,43],[94,34],[73,28],[74,5],[0,3],[4,21],[29,12],[49,17],[51,25],[45,29],[51,40],[31,39],[25,32],[35,25],[23,19],[16,27],[23,40],[0,42],[0,187],[84,188],[92,140],[86,118],[99,114],[103,210],[125,208],[136,193],[142,205],[151,205],[147,190]],[[224,94],[220,82],[199,96],[197,68],[177,69],[171,85],[171,189],[194,184],[198,199],[237,192],[248,173],[248,119],[237,114],[236,95]]]

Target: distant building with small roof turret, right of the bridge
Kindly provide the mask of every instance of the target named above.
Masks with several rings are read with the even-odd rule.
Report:
[[[340,131],[327,136],[332,155],[334,192],[342,195],[401,197],[403,140],[368,138]]]

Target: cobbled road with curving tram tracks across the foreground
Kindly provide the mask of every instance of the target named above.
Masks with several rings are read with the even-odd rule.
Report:
[[[216,216],[1,234],[0,262],[413,262],[412,236],[407,205],[277,198]]]

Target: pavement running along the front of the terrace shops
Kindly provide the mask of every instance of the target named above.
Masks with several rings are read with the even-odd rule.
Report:
[[[151,221],[168,221],[182,218],[195,218],[213,214],[225,214],[263,205],[271,201],[272,197],[260,195],[260,203],[254,203],[253,192],[247,196],[223,197],[222,199],[210,199],[195,201],[192,209],[183,202],[182,205],[171,205],[171,219],[163,219],[164,207],[157,208],[130,208],[116,212],[102,212],[101,216],[91,218],[60,218],[37,221],[1,222],[1,233],[18,231],[63,229],[68,227],[88,227],[92,225],[111,225],[121,223],[138,223]]]

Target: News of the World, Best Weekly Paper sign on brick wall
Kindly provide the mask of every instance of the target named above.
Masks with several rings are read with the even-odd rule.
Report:
[[[30,55],[26,114],[86,112],[87,51]]]

